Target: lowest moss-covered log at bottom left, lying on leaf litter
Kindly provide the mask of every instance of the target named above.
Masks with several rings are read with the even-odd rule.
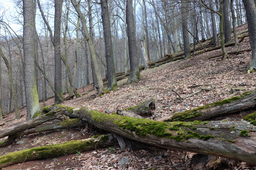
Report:
[[[0,168],[24,161],[53,158],[87,150],[94,150],[95,148],[112,146],[116,142],[117,141],[112,134],[107,134],[61,144],[34,147],[0,156]]]

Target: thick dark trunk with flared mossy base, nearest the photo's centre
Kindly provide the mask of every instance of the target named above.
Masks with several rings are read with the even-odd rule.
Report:
[[[130,57],[130,74],[127,79],[127,84],[138,82],[141,79],[141,74],[138,68],[138,52],[135,37],[135,23],[132,10],[132,0],[127,0],[126,4],[126,23],[128,32],[128,46]]]

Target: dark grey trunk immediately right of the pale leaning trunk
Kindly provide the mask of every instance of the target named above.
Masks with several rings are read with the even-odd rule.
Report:
[[[113,90],[117,86],[116,76],[115,76],[115,65],[112,47],[112,37],[110,30],[110,20],[109,20],[109,7],[107,0],[100,0],[101,4],[101,17],[103,24],[103,33],[105,40],[105,53],[106,53],[106,65],[107,65],[107,79],[108,79],[108,89]]]

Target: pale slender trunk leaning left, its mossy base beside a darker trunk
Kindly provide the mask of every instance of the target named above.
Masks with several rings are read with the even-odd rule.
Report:
[[[100,74],[100,69],[99,69],[99,65],[98,65],[98,62],[97,62],[97,57],[96,57],[96,52],[95,52],[95,49],[94,49],[94,45],[93,45],[93,42],[91,40],[91,36],[90,36],[90,34],[88,32],[88,29],[87,29],[86,19],[82,14],[82,12],[79,8],[79,5],[77,5],[76,0],[71,0],[71,3],[73,4],[73,6],[76,9],[79,17],[81,18],[82,29],[83,29],[83,32],[85,34],[86,40],[87,40],[88,45],[89,45],[90,53],[91,53],[92,66],[94,68],[94,73],[95,73],[95,88],[96,88],[97,95],[100,95],[103,92],[103,81],[102,81],[102,77],[101,77],[101,74]]]

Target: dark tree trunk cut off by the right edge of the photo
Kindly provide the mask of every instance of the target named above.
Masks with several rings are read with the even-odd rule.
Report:
[[[247,72],[253,73],[256,70],[256,1],[243,0],[243,3],[246,11],[250,46],[252,49],[252,61],[247,68]]]

